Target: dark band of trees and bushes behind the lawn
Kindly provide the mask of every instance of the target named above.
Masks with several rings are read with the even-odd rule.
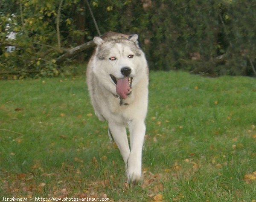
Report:
[[[88,2],[101,34],[140,35],[151,70],[256,75],[256,1]],[[6,40],[11,31],[17,33],[16,40]],[[91,51],[60,65],[56,59],[95,35],[96,26],[85,0],[1,0],[0,78],[59,75],[65,63],[87,61]],[[5,51],[9,45],[16,47],[15,52]]]

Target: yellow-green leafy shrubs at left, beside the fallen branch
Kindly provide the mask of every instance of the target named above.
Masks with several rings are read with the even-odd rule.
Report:
[[[3,0],[3,7],[9,5],[9,0]],[[76,29],[70,16],[75,12],[82,12],[78,1],[65,1],[61,8],[61,49],[57,47],[58,35],[56,34],[56,20],[58,14],[58,0],[38,1],[20,0],[15,1],[16,9],[1,13],[0,43],[2,55],[0,55],[0,69],[10,74],[19,72],[21,78],[30,76],[47,75],[53,76],[60,73],[56,57],[76,43],[75,38],[86,34]],[[13,11],[15,10],[15,12]],[[15,15],[11,14],[11,11]],[[6,30],[6,26],[9,29]],[[16,32],[15,40],[5,40],[9,32]],[[70,42],[71,41],[71,42]],[[7,45],[16,46],[15,52],[4,52]]]

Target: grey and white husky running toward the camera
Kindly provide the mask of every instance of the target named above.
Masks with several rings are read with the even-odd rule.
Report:
[[[95,114],[99,120],[108,121],[108,135],[120,150],[129,183],[140,181],[142,176],[148,107],[148,65],[137,39],[138,35],[118,33],[94,37],[96,49],[87,66],[87,85]]]

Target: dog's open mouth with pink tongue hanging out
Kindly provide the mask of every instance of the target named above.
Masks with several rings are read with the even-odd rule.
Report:
[[[132,90],[132,77],[116,79],[116,77],[114,77],[112,74],[110,74],[110,77],[116,84],[116,93],[120,95],[122,99],[127,98],[127,96],[131,94]]]

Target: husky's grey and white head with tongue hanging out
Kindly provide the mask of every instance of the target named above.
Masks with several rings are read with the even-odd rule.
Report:
[[[97,45],[93,71],[103,85],[111,85],[113,94],[125,99],[147,67],[145,55],[138,45],[138,35],[95,37],[93,41]]]

